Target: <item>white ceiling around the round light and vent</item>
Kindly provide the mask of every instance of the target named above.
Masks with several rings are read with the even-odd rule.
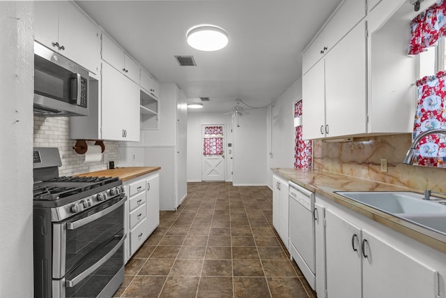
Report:
[[[176,83],[188,101],[210,97],[203,112],[227,112],[236,98],[272,103],[302,75],[302,50],[341,0],[76,1],[160,83]],[[229,44],[194,50],[186,32],[222,27]],[[192,55],[197,66],[174,56]]]

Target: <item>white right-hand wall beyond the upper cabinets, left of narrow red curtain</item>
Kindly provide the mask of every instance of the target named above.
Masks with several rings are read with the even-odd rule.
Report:
[[[291,85],[268,108],[268,186],[272,186],[271,167],[294,167],[294,102],[302,98],[302,78]],[[305,113],[305,112],[304,112]],[[272,153],[272,157],[269,155]]]

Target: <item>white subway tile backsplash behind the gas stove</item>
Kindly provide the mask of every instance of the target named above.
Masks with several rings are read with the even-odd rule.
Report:
[[[102,161],[84,163],[84,155],[77,154],[72,147],[76,140],[70,140],[70,119],[68,117],[34,117],[34,147],[57,147],[61,154],[62,166],[59,176],[70,176],[84,172],[107,169],[109,161],[118,161],[118,142],[105,141]],[[94,142],[89,142],[94,144]]]

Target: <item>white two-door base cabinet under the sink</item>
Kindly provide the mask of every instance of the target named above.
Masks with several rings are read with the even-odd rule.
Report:
[[[325,260],[316,248],[318,297],[443,297],[438,271],[445,271],[444,253],[321,197],[316,200],[318,209],[325,208],[325,239],[316,222],[316,245],[325,241]],[[425,258],[425,253],[432,255]]]

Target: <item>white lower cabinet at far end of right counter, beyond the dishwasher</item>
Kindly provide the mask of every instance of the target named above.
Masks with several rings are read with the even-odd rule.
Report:
[[[272,175],[272,225],[284,242],[286,249],[289,246],[289,185],[276,174]]]

